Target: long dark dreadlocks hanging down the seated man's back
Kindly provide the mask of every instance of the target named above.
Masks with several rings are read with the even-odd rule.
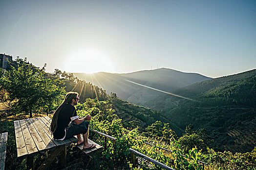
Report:
[[[60,115],[62,108],[64,107],[65,104],[71,104],[72,99],[76,99],[76,96],[78,96],[77,92],[73,92],[73,91],[68,92],[66,94],[65,99],[62,102],[62,104],[55,110],[53,118],[52,118],[51,126],[49,129],[51,131],[51,134],[53,134],[57,129],[57,121],[58,121],[58,117]]]

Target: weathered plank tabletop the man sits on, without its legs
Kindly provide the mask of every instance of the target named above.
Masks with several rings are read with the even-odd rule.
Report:
[[[14,121],[18,158],[22,159],[28,155],[33,156],[37,153],[45,153],[57,146],[67,146],[78,142],[75,137],[62,141],[54,140],[49,131],[50,124],[51,119],[49,117]]]

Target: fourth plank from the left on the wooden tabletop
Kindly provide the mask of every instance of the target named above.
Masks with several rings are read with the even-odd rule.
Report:
[[[33,123],[35,129],[42,137],[43,142],[47,146],[48,149],[56,147],[57,145],[52,141],[51,137],[47,135],[46,132],[44,132],[43,128],[40,126],[40,122],[36,119],[30,119],[30,121]]]

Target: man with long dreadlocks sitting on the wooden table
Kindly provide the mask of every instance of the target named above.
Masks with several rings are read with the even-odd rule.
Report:
[[[84,118],[79,118],[77,116],[74,105],[77,105],[78,101],[79,97],[77,92],[68,92],[66,94],[64,101],[54,112],[50,131],[53,138],[56,140],[64,140],[77,135],[79,140],[77,144],[80,145],[83,143],[83,149],[94,148],[95,145],[88,143],[88,121],[91,119],[91,116],[87,115]],[[71,120],[71,124],[68,125]],[[82,140],[81,134],[83,134],[84,140]]]

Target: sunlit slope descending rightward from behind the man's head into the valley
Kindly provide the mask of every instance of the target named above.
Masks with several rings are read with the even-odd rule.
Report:
[[[66,91],[75,91],[80,94],[80,101],[85,102],[86,99],[98,99],[99,101],[109,100],[115,110],[115,114],[122,119],[122,123],[127,128],[139,127],[141,131],[144,131],[147,126],[151,125],[156,121],[169,123],[170,128],[175,131],[177,136],[182,136],[185,131],[176,126],[170,120],[162,117],[159,112],[152,111],[149,108],[139,106],[122,99],[119,99],[115,93],[107,95],[106,91],[98,86],[86,83],[84,80],[79,80],[74,77],[72,73],[65,73],[61,70],[55,70],[53,75],[54,79],[60,78],[64,82],[62,87]]]

